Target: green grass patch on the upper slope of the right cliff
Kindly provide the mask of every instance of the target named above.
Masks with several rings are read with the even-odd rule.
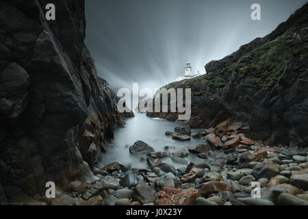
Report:
[[[292,27],[282,36],[272,40],[261,47],[247,53],[243,57],[226,68],[223,72],[236,71],[240,77],[235,81],[239,83],[244,77],[253,76],[251,82],[254,86],[268,87],[277,81],[287,62],[300,53],[307,57],[307,34],[296,34],[306,24]]]

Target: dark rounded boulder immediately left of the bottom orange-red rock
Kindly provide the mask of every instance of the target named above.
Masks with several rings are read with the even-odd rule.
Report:
[[[155,201],[155,190],[146,183],[139,183],[133,190],[133,198],[141,204],[153,203]]]

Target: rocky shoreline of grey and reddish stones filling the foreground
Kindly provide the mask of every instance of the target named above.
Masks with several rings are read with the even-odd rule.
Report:
[[[39,200],[43,205],[308,205],[307,149],[265,146],[246,138],[247,128],[225,121],[192,136],[204,144],[182,151],[155,152],[138,141],[129,151],[146,154],[149,169],[119,162],[97,166],[94,183],[73,181],[70,192]],[[188,153],[205,162],[185,163]],[[183,166],[164,163],[167,156]],[[253,182],[261,186],[261,198],[252,198]]]

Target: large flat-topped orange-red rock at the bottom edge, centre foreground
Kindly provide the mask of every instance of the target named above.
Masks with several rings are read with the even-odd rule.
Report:
[[[198,190],[180,190],[163,187],[155,194],[157,205],[194,205],[196,198],[201,197]]]

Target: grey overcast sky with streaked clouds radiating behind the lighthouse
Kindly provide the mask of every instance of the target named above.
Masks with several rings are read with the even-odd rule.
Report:
[[[264,37],[307,0],[87,0],[86,45],[100,77],[118,88],[160,88]],[[261,5],[261,21],[251,5]]]

